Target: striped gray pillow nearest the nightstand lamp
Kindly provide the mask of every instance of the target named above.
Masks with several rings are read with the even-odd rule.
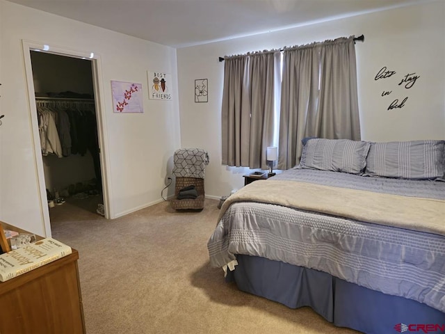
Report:
[[[362,174],[370,143],[350,139],[309,139],[303,146],[300,168]]]

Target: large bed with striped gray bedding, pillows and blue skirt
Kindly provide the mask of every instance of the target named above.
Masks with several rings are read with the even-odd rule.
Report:
[[[310,138],[229,196],[207,247],[238,289],[369,334],[445,332],[444,141]]]

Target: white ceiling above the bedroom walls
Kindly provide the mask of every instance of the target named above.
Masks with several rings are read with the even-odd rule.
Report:
[[[430,0],[8,1],[179,48]]]

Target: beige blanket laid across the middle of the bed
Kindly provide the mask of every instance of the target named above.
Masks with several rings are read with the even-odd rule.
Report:
[[[266,180],[253,182],[225,200],[218,221],[232,202],[264,202],[368,223],[445,235],[445,200],[373,193],[334,186]]]

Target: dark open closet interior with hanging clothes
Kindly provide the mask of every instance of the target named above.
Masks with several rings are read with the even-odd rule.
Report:
[[[101,214],[102,173],[92,63],[30,52],[51,225],[65,221],[67,216],[76,220],[86,212]]]

